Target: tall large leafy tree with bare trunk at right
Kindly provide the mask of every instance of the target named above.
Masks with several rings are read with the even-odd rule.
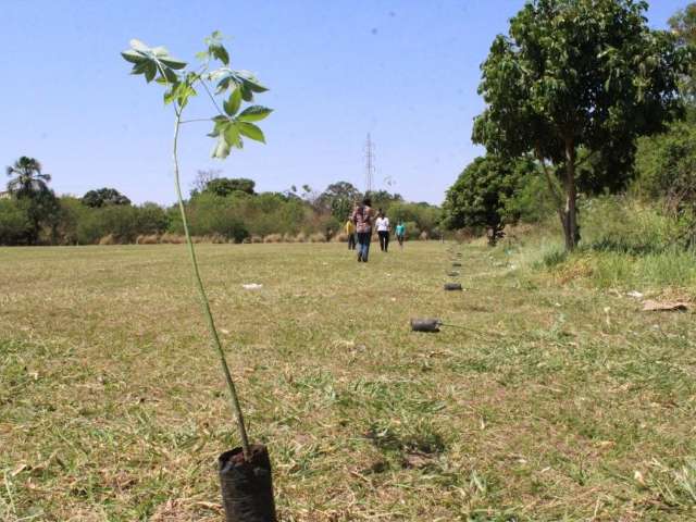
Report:
[[[580,239],[583,162],[631,157],[636,136],[659,132],[682,112],[678,86],[689,51],[650,30],[646,9],[634,0],[532,0],[482,65],[478,91],[487,107],[473,139],[492,153],[536,158],[568,250]],[[613,173],[595,174],[601,177],[594,183],[611,185]]]

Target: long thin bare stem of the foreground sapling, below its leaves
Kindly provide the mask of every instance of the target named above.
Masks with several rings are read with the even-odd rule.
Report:
[[[233,414],[237,419],[237,428],[239,430],[239,435],[241,437],[241,450],[244,452],[244,457],[247,461],[251,459],[251,451],[249,450],[249,438],[247,437],[247,430],[244,424],[244,415],[241,413],[241,407],[239,406],[239,397],[237,396],[237,389],[235,388],[235,383],[232,380],[232,375],[229,374],[229,368],[227,366],[227,361],[225,359],[225,352],[222,349],[220,344],[220,336],[217,335],[217,328],[215,328],[215,322],[213,321],[213,315],[210,312],[210,303],[208,301],[208,296],[206,295],[206,288],[203,287],[203,282],[200,278],[200,272],[198,271],[198,261],[196,259],[196,250],[194,249],[194,243],[191,241],[191,236],[188,232],[188,220],[186,219],[186,209],[184,208],[184,198],[182,198],[182,186],[179,183],[178,175],[178,133],[182,124],[182,110],[176,109],[176,123],[174,124],[174,142],[173,142],[173,154],[172,158],[174,160],[174,185],[176,186],[176,198],[178,200],[178,210],[182,213],[182,223],[184,224],[184,235],[186,236],[186,245],[188,246],[188,253],[191,260],[191,268],[194,271],[194,281],[196,282],[196,286],[198,288],[198,294],[200,297],[200,302],[203,308],[203,315],[206,315],[206,321],[208,323],[208,330],[210,331],[210,336],[212,339],[213,347],[220,357],[220,364],[222,365],[222,371],[225,374],[225,381],[227,382],[227,388],[229,390],[229,396],[232,399],[232,411]]]

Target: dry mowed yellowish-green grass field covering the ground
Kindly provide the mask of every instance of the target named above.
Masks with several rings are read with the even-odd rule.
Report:
[[[281,520],[696,518],[693,312],[375,247],[198,246]],[[237,445],[184,246],[0,249],[0,520],[222,520]]]

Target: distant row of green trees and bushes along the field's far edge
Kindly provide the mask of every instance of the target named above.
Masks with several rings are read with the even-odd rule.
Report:
[[[0,199],[1,245],[112,245],[182,243],[177,206],[132,204],[113,188],[90,190],[82,198],[57,197],[50,175],[32,158],[8,167],[12,176]],[[398,194],[374,191],[376,208],[403,220],[410,238],[439,234],[440,210],[403,201]],[[247,178],[199,172],[185,202],[191,235],[210,243],[344,240],[344,225],[363,197],[346,182],[318,192],[309,186],[284,192],[257,192]]]

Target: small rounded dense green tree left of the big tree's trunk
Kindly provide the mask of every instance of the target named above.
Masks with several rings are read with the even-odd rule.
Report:
[[[506,224],[513,224],[520,214],[514,196],[525,176],[533,173],[531,160],[506,161],[486,156],[476,158],[447,190],[445,224],[450,229],[485,227],[488,244],[495,246],[504,236]]]

